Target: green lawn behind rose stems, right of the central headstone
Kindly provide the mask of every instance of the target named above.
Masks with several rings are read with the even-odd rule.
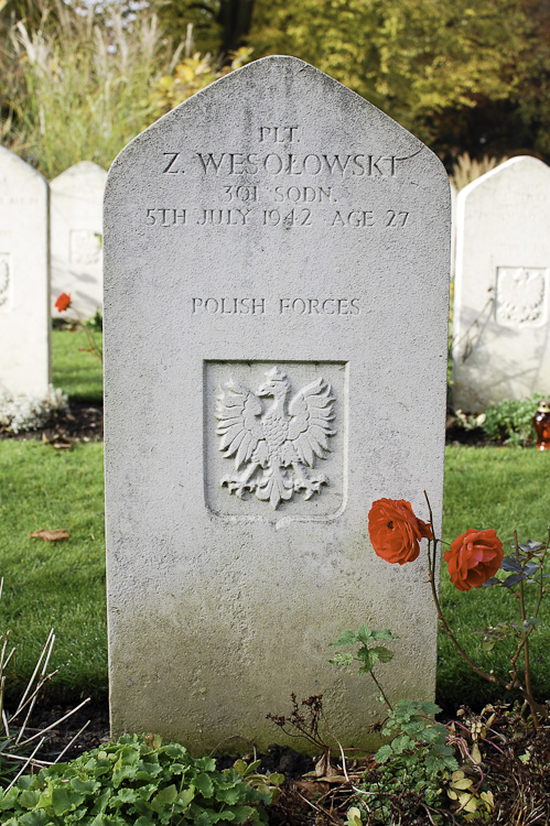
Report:
[[[517,530],[519,542],[546,540],[550,525],[549,482],[550,454],[533,448],[447,447],[443,539],[452,542],[468,528],[494,528],[505,554],[513,553],[514,530]],[[528,586],[526,593],[532,605],[533,586]],[[487,671],[495,669],[506,677],[510,645],[497,646],[488,655],[482,650],[483,638],[475,631],[507,619],[517,620],[518,600],[505,588],[473,588],[461,594],[451,584],[445,564],[441,596],[463,648]],[[533,686],[538,696],[544,698],[550,698],[550,673],[546,664],[550,645],[549,617],[548,604],[543,604],[540,618],[547,620],[547,627],[537,631],[532,639]],[[500,691],[477,678],[456,656],[452,643],[441,634],[438,695],[440,702],[452,710],[461,703],[477,706],[484,700],[495,699],[500,696]]]

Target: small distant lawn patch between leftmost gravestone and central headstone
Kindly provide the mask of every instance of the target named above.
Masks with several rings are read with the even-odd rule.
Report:
[[[94,333],[101,346],[101,334]],[[52,383],[61,388],[74,402],[97,404],[103,401],[101,363],[85,352],[88,341],[83,332],[54,329],[52,332]]]

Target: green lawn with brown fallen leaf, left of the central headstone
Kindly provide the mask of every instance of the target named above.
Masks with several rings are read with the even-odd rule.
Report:
[[[0,442],[0,629],[17,656],[7,686],[30,676],[53,627],[52,694],[63,699],[107,691],[103,444],[55,450],[40,442]],[[28,539],[65,528],[69,540]],[[10,691],[11,689],[11,691]]]

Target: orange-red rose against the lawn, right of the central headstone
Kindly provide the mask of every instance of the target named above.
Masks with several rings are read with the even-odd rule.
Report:
[[[477,588],[495,576],[503,557],[503,543],[493,529],[476,531],[471,528],[443,554],[451,582],[459,590]]]

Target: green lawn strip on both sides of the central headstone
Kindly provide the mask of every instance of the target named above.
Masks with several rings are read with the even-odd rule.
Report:
[[[105,696],[103,445],[58,452],[39,442],[3,441],[0,468],[0,570],[4,576],[0,629],[11,628],[18,645],[11,688],[21,687],[54,627],[53,664],[60,666],[60,674],[52,694],[60,699]],[[514,528],[520,540],[543,539],[550,521],[544,492],[549,475],[550,455],[533,449],[449,447],[444,539],[451,541],[468,528],[495,528],[505,546],[511,543]],[[39,528],[65,528],[71,539],[54,543],[28,539]],[[517,600],[499,588],[460,594],[445,570],[441,593],[464,648],[473,659],[483,659],[481,637],[474,631],[510,617]],[[538,631],[533,672],[540,697],[550,697],[550,673],[543,662],[549,645],[550,629]],[[483,662],[493,667],[493,661],[485,657]],[[494,663],[503,667],[506,661],[497,652]],[[385,666],[385,674],[391,680],[391,665]],[[438,696],[451,710],[462,703],[478,706],[498,696],[463,666],[443,635]]]

